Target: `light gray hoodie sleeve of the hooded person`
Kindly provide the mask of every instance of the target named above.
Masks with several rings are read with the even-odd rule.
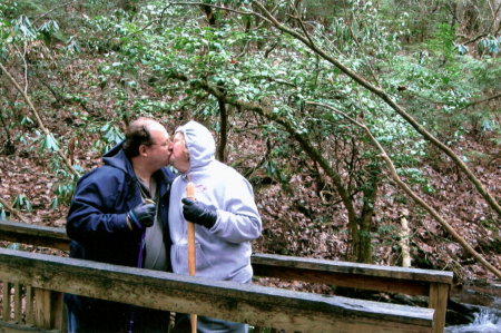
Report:
[[[225,199],[217,209],[216,224],[209,232],[229,243],[243,243],[259,237],[263,226],[250,184],[239,177],[233,179],[230,186],[223,190],[220,195]]]

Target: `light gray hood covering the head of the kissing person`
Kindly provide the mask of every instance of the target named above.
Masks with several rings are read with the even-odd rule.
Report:
[[[183,133],[189,151],[189,169],[193,170],[214,160],[216,143],[212,133],[204,125],[190,120],[176,129]]]

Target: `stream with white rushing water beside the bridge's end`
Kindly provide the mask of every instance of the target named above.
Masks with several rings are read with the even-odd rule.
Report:
[[[462,308],[458,311],[471,321],[446,326],[445,333],[501,332],[501,285],[492,284],[453,291],[451,298],[461,304]]]

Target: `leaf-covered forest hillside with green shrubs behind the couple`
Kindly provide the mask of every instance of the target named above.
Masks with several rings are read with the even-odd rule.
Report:
[[[499,282],[500,7],[3,0],[0,219],[63,227],[130,119],[196,119],[254,186],[255,252]]]

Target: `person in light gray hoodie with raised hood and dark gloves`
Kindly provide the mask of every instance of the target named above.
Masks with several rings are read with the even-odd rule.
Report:
[[[187,223],[195,223],[196,276],[250,283],[250,242],[259,237],[262,221],[250,184],[234,168],[215,159],[210,131],[189,121],[176,129],[170,164],[180,173],[171,186],[169,231],[174,273],[188,275]],[[186,198],[186,185],[195,185],[196,200]],[[189,319],[176,320],[177,332]],[[198,332],[247,332],[248,326],[198,316]]]

